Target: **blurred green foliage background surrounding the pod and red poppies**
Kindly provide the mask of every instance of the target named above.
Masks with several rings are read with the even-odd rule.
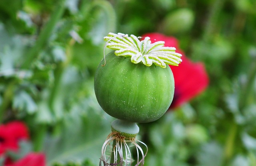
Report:
[[[0,121],[48,165],[98,165],[113,120],[94,96],[108,32],[175,36],[210,86],[140,125],[145,166],[256,166],[255,0],[1,0]],[[109,50],[107,50],[109,51]]]

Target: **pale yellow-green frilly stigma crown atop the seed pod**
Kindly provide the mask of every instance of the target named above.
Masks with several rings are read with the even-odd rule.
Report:
[[[146,66],[155,64],[166,68],[166,64],[178,66],[181,60],[181,54],[175,52],[174,47],[165,47],[164,41],[151,43],[149,37],[140,41],[136,36],[127,34],[109,33],[104,37],[107,40],[107,47],[116,50],[116,56],[131,57],[131,62],[138,64],[142,62]]]

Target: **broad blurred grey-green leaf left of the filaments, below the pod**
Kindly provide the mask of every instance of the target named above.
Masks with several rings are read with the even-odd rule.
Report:
[[[74,106],[65,115],[60,135],[49,136],[44,145],[48,164],[54,162],[68,162],[70,160],[82,162],[86,159],[93,164],[99,163],[101,148],[110,133],[110,119],[106,119],[100,106],[94,98]]]

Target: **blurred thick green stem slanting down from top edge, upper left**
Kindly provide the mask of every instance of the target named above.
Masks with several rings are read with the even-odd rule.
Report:
[[[30,64],[38,56],[38,52],[42,50],[42,48],[47,44],[54,27],[56,26],[58,20],[60,20],[64,9],[65,9],[65,0],[60,0],[59,4],[56,5],[56,10],[52,13],[50,20],[46,23],[42,31],[40,32],[38,39],[36,40],[36,44],[28,50],[26,53],[25,61],[22,64],[22,68],[29,68]]]

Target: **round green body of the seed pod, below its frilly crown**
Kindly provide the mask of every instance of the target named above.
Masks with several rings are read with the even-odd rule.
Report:
[[[102,109],[130,122],[152,122],[169,108],[174,95],[174,78],[169,67],[133,64],[130,58],[110,52],[106,65],[96,70],[94,90]]]

